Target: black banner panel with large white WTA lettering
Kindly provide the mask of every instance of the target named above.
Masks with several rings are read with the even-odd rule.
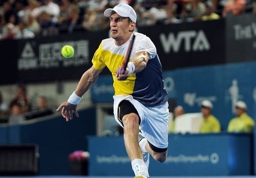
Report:
[[[163,69],[169,70],[225,63],[224,27],[225,20],[221,19],[157,25],[138,30],[152,39]]]

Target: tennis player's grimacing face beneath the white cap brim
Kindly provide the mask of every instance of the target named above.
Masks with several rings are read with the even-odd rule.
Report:
[[[131,36],[131,31],[134,30],[134,22],[128,17],[121,17],[118,14],[112,14],[110,17],[111,37],[116,41],[126,42]]]

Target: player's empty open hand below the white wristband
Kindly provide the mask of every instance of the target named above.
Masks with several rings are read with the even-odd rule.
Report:
[[[73,114],[75,114],[76,117],[79,117],[77,112],[77,105],[72,105],[68,101],[61,103],[56,111],[60,110],[62,116],[66,119],[67,122],[73,119]]]

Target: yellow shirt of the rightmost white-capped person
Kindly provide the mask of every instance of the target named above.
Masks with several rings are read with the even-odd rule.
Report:
[[[246,113],[243,113],[239,117],[232,118],[228,123],[228,132],[246,132],[251,133],[253,131],[254,121]]]

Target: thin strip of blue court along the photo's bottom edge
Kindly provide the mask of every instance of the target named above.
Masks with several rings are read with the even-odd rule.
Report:
[[[69,175],[47,175],[47,176],[0,176],[1,178],[133,178],[134,176],[69,176]],[[151,178],[256,178],[253,175],[236,176],[151,176]]]

